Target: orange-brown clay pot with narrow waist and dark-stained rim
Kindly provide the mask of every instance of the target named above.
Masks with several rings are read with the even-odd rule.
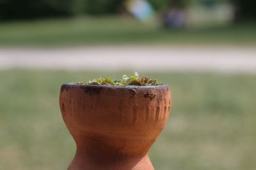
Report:
[[[148,149],[166,124],[167,85],[63,84],[60,108],[77,151],[68,170],[152,170]]]

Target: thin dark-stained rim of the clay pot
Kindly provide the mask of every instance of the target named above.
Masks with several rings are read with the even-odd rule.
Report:
[[[83,85],[78,83],[63,83],[61,86],[69,86],[69,87],[94,87],[97,88],[110,88],[110,89],[161,89],[164,87],[169,87],[167,84],[162,85],[127,85],[127,86],[121,86],[121,85]]]

